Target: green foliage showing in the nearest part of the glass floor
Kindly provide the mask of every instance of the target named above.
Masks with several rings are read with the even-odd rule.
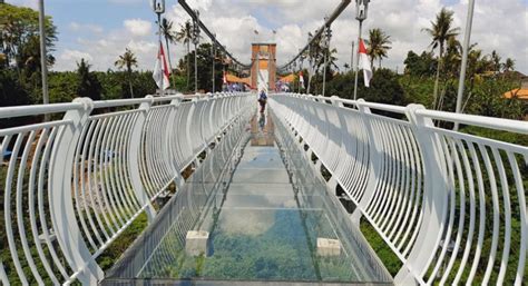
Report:
[[[188,256],[177,239],[166,237],[165,240],[170,240],[160,245],[150,262],[160,255],[165,262],[175,263],[148,264],[140,276],[285,282],[358,279],[350,267],[350,256],[321,257],[316,254],[317,234],[329,231],[321,229],[327,226],[320,225],[323,223],[320,219],[319,211],[277,210],[273,226],[263,233],[228,231],[221,224],[212,233],[214,250],[207,257]]]

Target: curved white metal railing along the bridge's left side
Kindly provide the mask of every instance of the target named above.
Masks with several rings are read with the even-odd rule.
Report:
[[[216,93],[0,108],[1,120],[60,118],[0,129],[2,284],[97,284],[96,258],[143,211],[151,219],[151,201],[253,103]]]

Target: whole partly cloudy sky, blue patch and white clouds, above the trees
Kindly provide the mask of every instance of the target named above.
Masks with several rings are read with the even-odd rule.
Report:
[[[6,2],[37,8],[37,0]],[[138,58],[139,69],[151,70],[157,55],[156,14],[149,0],[47,0],[46,13],[58,28],[58,42],[52,51],[53,70],[72,70],[81,58],[95,70],[115,69],[114,62],[126,48]],[[176,0],[167,0],[165,17],[179,24],[188,16]],[[307,32],[323,23],[340,0],[188,0],[198,9],[202,21],[216,32],[218,40],[243,63],[251,61],[251,43],[277,43],[278,63],[287,62],[307,41]],[[409,50],[417,53],[430,49],[430,37],[422,31],[442,7],[454,11],[454,26],[463,36],[468,0],[372,0],[364,36],[381,28],[392,40],[383,66],[403,70]],[[339,66],[351,60],[352,41],[358,38],[355,4],[349,6],[332,26],[331,45],[338,49]],[[254,30],[260,31],[258,36]],[[276,30],[276,36],[273,36]],[[207,41],[204,38],[204,41]],[[528,0],[478,0],[471,42],[486,55],[497,50],[512,58],[516,69],[528,75]],[[183,45],[170,46],[175,59],[185,55]]]

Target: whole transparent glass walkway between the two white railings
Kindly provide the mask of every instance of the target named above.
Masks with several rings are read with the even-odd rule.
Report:
[[[255,116],[243,128],[233,157],[225,160],[231,174],[213,176],[211,158],[222,156],[223,145],[228,145],[221,142],[194,174],[190,187],[159,215],[163,221],[145,231],[144,236],[157,234],[156,239],[138,239],[102,284],[391,284],[359,230],[336,220],[344,214],[335,210],[339,201],[332,201],[336,198],[329,196],[320,175],[306,174],[309,165],[302,166],[305,174],[286,169],[280,149],[285,142],[276,141],[271,116]],[[289,154],[295,156],[302,155]],[[292,184],[300,177],[312,179],[302,180],[302,186]],[[182,204],[182,197],[189,198],[188,205]],[[176,220],[163,219],[175,214],[169,208],[179,208]],[[189,218],[187,225],[183,217]],[[160,228],[166,228],[165,234]]]

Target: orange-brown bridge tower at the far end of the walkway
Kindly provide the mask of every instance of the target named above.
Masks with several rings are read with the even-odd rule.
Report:
[[[276,43],[252,45],[251,87],[257,90],[275,90]]]

